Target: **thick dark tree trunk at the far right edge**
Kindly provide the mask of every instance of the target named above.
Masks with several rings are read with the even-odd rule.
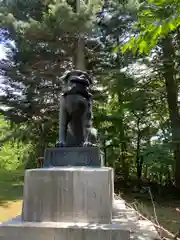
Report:
[[[175,79],[174,48],[170,36],[163,40],[163,76],[166,83],[167,102],[172,129],[172,146],[174,153],[175,184],[180,188],[180,115],[178,109],[178,86]]]

